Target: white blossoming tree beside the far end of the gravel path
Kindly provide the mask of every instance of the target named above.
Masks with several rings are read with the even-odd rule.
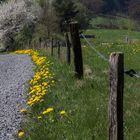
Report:
[[[34,0],[9,0],[0,5],[0,51],[10,48],[15,33],[38,20],[41,10]]]

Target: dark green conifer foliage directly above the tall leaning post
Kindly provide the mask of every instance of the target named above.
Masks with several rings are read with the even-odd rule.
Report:
[[[73,0],[55,0],[53,3],[56,14],[59,17],[59,25],[63,28],[64,22],[77,20],[81,28],[86,28],[89,25],[90,11],[81,2]]]

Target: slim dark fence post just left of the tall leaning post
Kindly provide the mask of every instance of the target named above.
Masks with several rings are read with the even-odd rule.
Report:
[[[65,40],[66,40],[66,47],[67,47],[67,63],[70,65],[70,63],[71,63],[71,50],[70,50],[71,44],[70,44],[68,32],[65,33]]]

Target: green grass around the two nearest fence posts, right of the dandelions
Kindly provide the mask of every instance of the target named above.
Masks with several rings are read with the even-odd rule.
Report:
[[[101,30],[105,36],[104,30]],[[117,31],[114,31],[117,32]],[[119,31],[118,31],[119,32]],[[96,31],[96,33],[98,33]],[[110,35],[111,31],[108,31]],[[118,34],[118,33],[117,33]],[[133,33],[134,36],[135,33]],[[106,37],[106,40],[109,38]],[[111,35],[110,35],[111,36]],[[112,40],[115,40],[112,35]],[[110,41],[110,40],[109,40]],[[107,58],[111,52],[121,51],[125,54],[125,68],[133,68],[140,73],[140,44],[107,44],[96,46]],[[109,99],[109,65],[89,47],[83,47],[84,79],[74,78],[73,64],[51,57],[43,52],[54,64],[51,71],[55,74],[56,84],[45,97],[45,101],[34,106],[27,122],[23,125],[27,140],[107,140],[108,139],[108,99]],[[64,52],[63,52],[63,59]],[[125,75],[124,89],[124,130],[125,140],[140,138],[140,79]],[[47,108],[52,112],[42,120],[37,116]],[[67,116],[58,114],[65,110]]]

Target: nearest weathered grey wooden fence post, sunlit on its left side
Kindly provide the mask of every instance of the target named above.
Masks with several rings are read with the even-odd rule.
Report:
[[[109,140],[123,140],[124,55],[110,56]]]

